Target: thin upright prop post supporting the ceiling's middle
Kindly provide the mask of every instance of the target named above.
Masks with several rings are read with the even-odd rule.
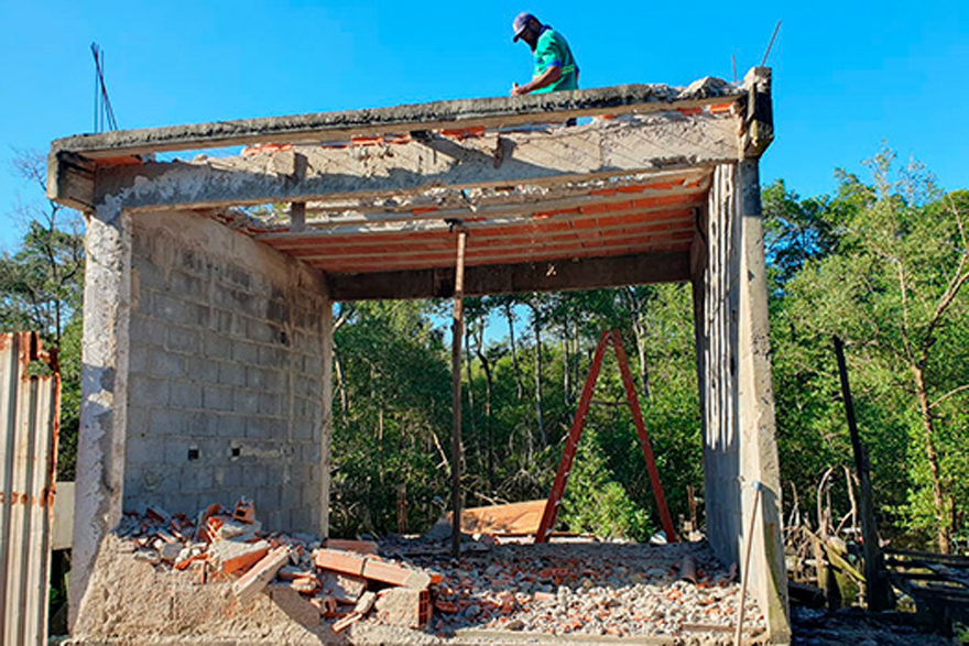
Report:
[[[465,331],[465,245],[468,232],[458,230],[458,260],[455,267],[454,320],[451,321],[450,384],[454,429],[450,444],[451,534],[455,557],[461,554],[461,337]]]

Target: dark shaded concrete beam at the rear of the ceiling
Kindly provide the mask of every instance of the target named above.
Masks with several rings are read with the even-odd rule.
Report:
[[[334,300],[449,298],[454,269],[330,274]],[[547,261],[465,270],[465,295],[596,289],[689,280],[688,252],[655,252],[588,260]]]

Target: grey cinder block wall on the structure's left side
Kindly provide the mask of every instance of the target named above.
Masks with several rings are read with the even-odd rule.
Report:
[[[124,508],[247,495],[264,527],[316,532],[323,275],[192,213],[131,222]]]

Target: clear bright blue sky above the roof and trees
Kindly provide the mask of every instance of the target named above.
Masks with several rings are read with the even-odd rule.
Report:
[[[511,42],[530,10],[562,31],[583,87],[686,85],[758,65],[777,20],[776,140],[764,182],[830,193],[886,140],[944,188],[967,188],[969,2],[96,2],[0,0],[0,244],[39,193],[14,151],[92,129],[90,43],[121,128],[508,94],[529,80]]]

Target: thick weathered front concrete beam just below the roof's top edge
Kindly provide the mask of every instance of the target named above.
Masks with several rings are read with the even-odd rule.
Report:
[[[736,161],[739,124],[730,116],[672,112],[464,141],[434,135],[403,144],[302,146],[306,165],[298,175],[285,164],[281,171],[273,154],[104,166],[94,197],[79,199],[99,204],[113,197],[129,210],[197,209],[409,195],[431,187],[556,185]]]

